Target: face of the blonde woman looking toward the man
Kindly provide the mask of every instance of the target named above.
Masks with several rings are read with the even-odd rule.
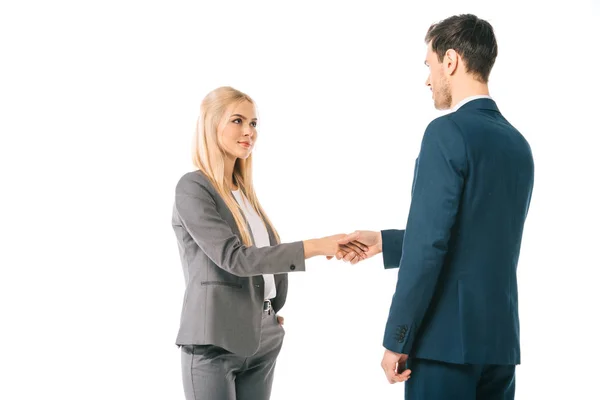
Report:
[[[246,159],[256,143],[256,110],[249,101],[234,106],[229,120],[219,136],[219,144],[232,159]]]

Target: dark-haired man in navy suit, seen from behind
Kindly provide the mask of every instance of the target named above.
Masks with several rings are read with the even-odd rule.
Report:
[[[398,283],[383,339],[390,383],[414,399],[513,399],[520,363],[517,262],[533,188],[527,141],[489,96],[492,26],[474,15],[432,25],[425,64],[435,107],[406,230],[356,231],[337,258],[383,252]],[[408,380],[410,378],[410,380]]]

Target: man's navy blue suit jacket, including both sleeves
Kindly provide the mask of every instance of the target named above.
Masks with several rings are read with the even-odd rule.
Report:
[[[400,267],[385,348],[520,363],[517,262],[533,172],[529,144],[491,99],[429,124],[406,230],[382,231],[384,265]]]

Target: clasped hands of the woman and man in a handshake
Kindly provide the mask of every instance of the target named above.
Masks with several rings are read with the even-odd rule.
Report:
[[[326,256],[356,264],[381,253],[381,232],[355,231],[304,241],[304,258]]]

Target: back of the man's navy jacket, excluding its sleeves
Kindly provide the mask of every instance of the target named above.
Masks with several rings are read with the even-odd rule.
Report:
[[[531,150],[490,99],[472,100],[441,118],[462,135],[466,168],[439,284],[414,354],[519,364],[516,269],[533,188]]]

